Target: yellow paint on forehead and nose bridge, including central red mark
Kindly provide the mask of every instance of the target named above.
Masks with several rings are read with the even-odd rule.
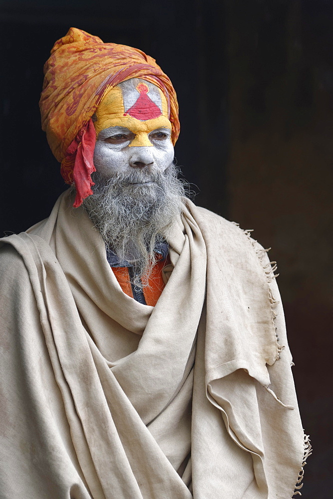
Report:
[[[135,135],[129,147],[153,146],[148,137],[149,133],[158,128],[171,130],[166,98],[158,87],[155,88],[160,94],[161,107],[150,99],[149,86],[141,81],[136,86],[137,99],[127,110],[121,87],[115,86],[108,90],[96,110],[97,120],[94,126],[97,137],[105,128],[121,126],[128,128]],[[135,89],[133,91],[135,92]]]

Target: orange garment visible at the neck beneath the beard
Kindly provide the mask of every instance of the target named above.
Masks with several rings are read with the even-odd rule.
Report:
[[[143,295],[146,300],[146,305],[154,307],[158,298],[161,296],[164,289],[164,281],[162,277],[163,268],[170,263],[170,256],[166,259],[161,258],[153,267],[152,273],[148,279],[148,286],[143,288]],[[133,298],[132,286],[129,281],[129,273],[127,267],[111,267],[121,289],[125,294]]]

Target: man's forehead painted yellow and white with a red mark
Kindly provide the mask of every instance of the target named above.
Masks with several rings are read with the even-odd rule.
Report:
[[[96,133],[112,126],[135,131],[159,127],[171,129],[165,95],[149,81],[131,78],[104,94],[96,110]]]

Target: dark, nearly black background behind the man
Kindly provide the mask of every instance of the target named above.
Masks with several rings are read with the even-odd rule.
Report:
[[[331,16],[325,0],[0,1],[0,235],[47,217],[65,189],[38,110],[54,41],[75,26],[156,58],[178,94],[176,157],[196,204],[255,229],[279,263],[314,448],[308,499],[333,490]]]

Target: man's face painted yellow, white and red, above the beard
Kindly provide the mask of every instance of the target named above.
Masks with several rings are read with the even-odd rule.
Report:
[[[167,101],[152,83],[132,78],[102,98],[94,126],[94,165],[104,177],[131,168],[164,171],[174,156]]]

